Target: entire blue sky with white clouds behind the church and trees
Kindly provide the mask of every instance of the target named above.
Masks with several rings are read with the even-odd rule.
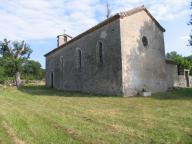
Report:
[[[108,0],[112,14],[145,5],[166,29],[166,52],[192,54],[188,47],[190,0]],[[45,67],[44,54],[64,29],[76,36],[105,19],[106,0],[0,0],[0,40],[26,40],[31,59]]]

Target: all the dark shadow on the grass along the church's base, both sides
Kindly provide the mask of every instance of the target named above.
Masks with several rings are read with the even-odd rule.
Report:
[[[92,97],[92,98],[106,98],[106,97],[113,97],[113,98],[123,98],[123,96],[107,96],[107,95],[96,95],[91,93],[83,93],[83,92],[72,92],[72,91],[62,91],[62,90],[55,90],[50,89],[45,86],[35,86],[35,85],[28,85],[23,86],[19,89],[20,91],[30,94],[32,96],[62,96],[62,97]],[[136,97],[129,97],[129,98],[143,98],[141,96]],[[158,100],[192,100],[192,89],[185,88],[185,89],[175,89],[169,92],[157,93],[153,94],[153,96],[148,97],[151,99],[158,99]]]

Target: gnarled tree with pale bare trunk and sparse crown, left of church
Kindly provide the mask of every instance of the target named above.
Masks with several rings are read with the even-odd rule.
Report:
[[[16,86],[21,86],[21,66],[24,60],[29,59],[32,50],[25,41],[13,41],[12,43],[7,39],[0,42],[0,55],[6,60],[11,61],[15,73]]]

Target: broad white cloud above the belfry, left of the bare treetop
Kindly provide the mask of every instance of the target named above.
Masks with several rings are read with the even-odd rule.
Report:
[[[0,38],[46,39],[64,29],[75,35],[98,22],[97,5],[94,0],[0,0]]]

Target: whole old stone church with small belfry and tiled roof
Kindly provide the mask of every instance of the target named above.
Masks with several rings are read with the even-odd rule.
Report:
[[[45,55],[48,87],[133,96],[173,87],[176,65],[167,63],[165,29],[145,7],[117,13],[77,37],[58,36]],[[169,76],[167,76],[169,74]]]

